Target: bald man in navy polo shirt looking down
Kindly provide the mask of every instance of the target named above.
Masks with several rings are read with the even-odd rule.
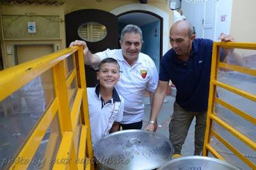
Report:
[[[234,42],[230,35],[221,34],[220,38],[221,42]],[[195,116],[194,155],[200,155],[204,144],[213,42],[195,39],[193,26],[186,20],[180,20],[170,29],[170,43],[172,49],[168,50],[161,60],[150,120],[156,120],[171,80],[177,88],[169,125],[170,140],[174,145],[175,154],[180,154]],[[221,50],[221,56],[226,56],[224,50]],[[154,127],[148,125],[146,129],[152,130]]]

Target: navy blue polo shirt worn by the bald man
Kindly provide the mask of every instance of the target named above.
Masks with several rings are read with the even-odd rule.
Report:
[[[187,62],[180,61],[173,49],[161,59],[159,80],[171,80],[175,84],[175,102],[188,111],[207,111],[212,43],[212,40],[196,38]],[[223,52],[221,50],[221,56]]]

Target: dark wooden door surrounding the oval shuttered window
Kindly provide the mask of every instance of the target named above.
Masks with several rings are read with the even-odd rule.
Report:
[[[105,49],[118,48],[118,22],[117,17],[112,13],[102,10],[79,10],[65,15],[67,47],[74,40],[82,40],[78,35],[77,29],[86,22],[98,22],[106,27],[107,35],[99,42],[86,41],[92,53]],[[90,66],[85,65],[86,86],[94,87],[97,84],[96,71]]]

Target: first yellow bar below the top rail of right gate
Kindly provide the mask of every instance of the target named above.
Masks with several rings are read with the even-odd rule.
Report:
[[[229,65],[227,63],[220,62],[219,63],[220,68],[227,68],[229,70],[233,70],[236,72],[246,73],[248,75],[256,76],[256,70],[253,70],[252,68],[246,68],[243,66],[237,66],[237,65]]]

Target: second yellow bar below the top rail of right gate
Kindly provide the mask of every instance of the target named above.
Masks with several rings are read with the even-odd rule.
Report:
[[[248,98],[248,99],[252,100],[253,102],[256,102],[256,95],[252,95],[251,93],[248,93],[248,92],[243,91],[241,89],[234,88],[233,86],[230,86],[230,85],[225,84],[223,82],[219,82],[219,81],[212,81],[212,82],[216,86],[219,86],[223,89],[227,89],[228,91],[232,91],[233,93],[236,93],[237,95]]]

